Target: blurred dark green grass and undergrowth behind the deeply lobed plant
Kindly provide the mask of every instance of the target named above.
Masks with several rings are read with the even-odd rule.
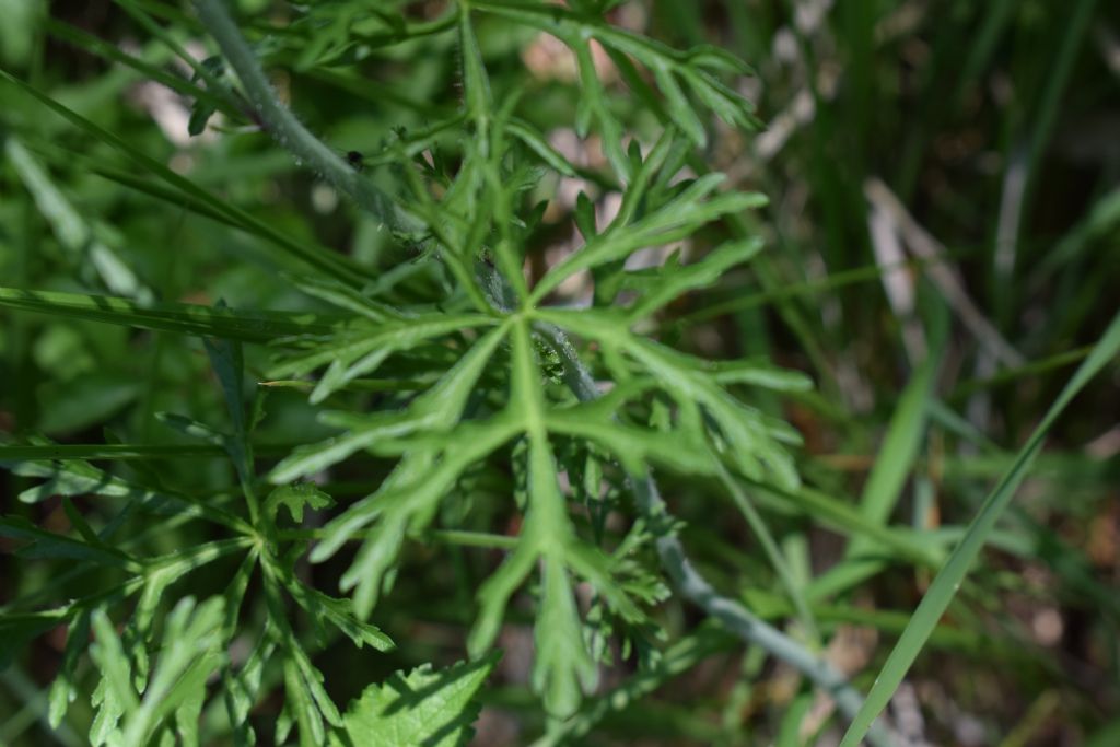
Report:
[[[122,4],[172,19],[179,43],[194,34],[189,17],[171,6]],[[251,3],[242,4],[248,10]],[[46,116],[10,82],[0,83],[0,137],[9,153],[0,165],[2,284],[55,293],[49,298],[56,315],[28,314],[31,299],[0,293],[0,431],[45,432],[65,441],[11,449],[129,456],[132,468],[168,484],[199,494],[221,489],[221,468],[164,458],[183,446],[152,424],[156,411],[220,411],[214,387],[198,385],[206,375],[200,351],[177,333],[205,328],[263,340],[314,323],[321,308],[277,280],[279,267],[298,267],[278,260],[278,250],[300,259],[321,255],[305,249],[312,242],[348,251],[354,260],[335,253],[329,268],[347,278],[400,258],[362,227],[351,206],[317,206],[314,175],[278,160],[263,136],[183,144],[152,124],[150,104],[124,103],[123,92],[134,92],[140,75],[90,53],[120,60],[116,43],[150,39],[151,25],[146,30],[102,2],[82,12],[62,3],[52,12],[49,25],[34,15],[10,16],[0,34],[6,68],[73,113],[59,111],[71,124]],[[274,27],[260,18],[262,28]],[[850,674],[866,690],[904,635],[904,622],[935,588],[931,558],[943,558],[951,542],[968,536],[965,527],[993,482],[1014,466],[1018,446],[1044,421],[1116,312],[1120,76],[1108,59],[1118,54],[1120,7],[1092,0],[656,0],[624,3],[613,19],[674,45],[719,44],[759,73],[738,83],[757,101],[769,130],[754,138],[721,131],[697,162],[713,164],[771,196],[760,226],[728,226],[729,233],[762,227],[767,251],[749,272],[732,272],[710,295],[674,307],[660,328],[707,355],[765,353],[818,380],[820,392],[796,398],[786,412],[805,436],[803,469],[811,485],[797,496],[752,488],[748,497],[787,553],[785,582],[801,586],[794,594],[808,599],[825,646],[832,642],[833,655],[855,657]],[[479,28],[495,75],[521,76],[522,39],[506,38],[500,24]],[[299,41],[292,36],[290,44]],[[375,149],[390,124],[429,122],[457,101],[454,46],[438,35],[413,44],[414,56],[389,50],[361,65],[291,72],[297,111],[344,151]],[[271,50],[284,64],[297,63],[297,53],[279,44]],[[149,66],[165,62],[141,58]],[[553,112],[567,112],[578,97],[562,78],[532,86],[519,114],[544,129]],[[613,103],[625,112],[626,102],[619,95]],[[632,127],[645,137],[653,124],[637,118]],[[100,132],[111,137],[90,137]],[[25,155],[13,159],[12,148]],[[189,179],[179,176],[183,170]],[[943,255],[914,254],[900,232],[905,261],[879,261],[864,196],[870,178],[898,196],[946,248]],[[56,209],[43,209],[44,200]],[[93,244],[67,241],[65,226],[76,224],[97,236]],[[227,231],[230,225],[240,232]],[[542,233],[541,245],[530,251],[543,255],[548,240]],[[95,246],[110,246],[134,288],[150,289],[159,302],[140,309],[93,301],[109,292],[129,295],[120,287],[127,276],[114,280],[90,271],[93,258],[81,252]],[[1024,365],[992,363],[952,299],[928,281],[933,265],[959,272],[977,306],[1025,356]],[[902,278],[913,293],[913,316],[884,292],[888,278]],[[64,298],[73,301],[73,318],[57,316]],[[261,315],[259,325],[236,327],[222,314],[199,316],[185,306],[218,298],[234,308],[293,314]],[[104,309],[102,318],[116,315],[149,332],[93,324],[92,306]],[[906,348],[906,325],[915,319],[928,342],[924,360],[912,360]],[[263,351],[251,348],[249,356],[251,368],[263,368]],[[991,547],[970,576],[955,578],[961,592],[945,603],[946,616],[932,628],[933,647],[906,644],[916,656],[908,682],[920,693],[923,736],[935,744],[1116,740],[1120,614],[1110,600],[1120,591],[1120,387],[1116,362],[1103,366],[1053,423],[1011,510],[995,522]],[[120,393],[121,382],[138,381],[146,383],[142,392]],[[87,412],[63,418],[63,404]],[[269,410],[270,442],[304,439],[317,428],[298,395],[277,389]],[[103,430],[119,441],[104,443]],[[0,458],[20,454],[0,446]],[[4,474],[3,480],[3,512],[31,515],[13,501],[26,487],[22,479]],[[734,510],[713,516],[704,497],[710,486],[672,489],[681,517],[696,527],[685,541],[706,571],[762,616],[791,619],[780,579]],[[464,529],[492,529],[493,502],[485,491],[474,501]],[[57,508],[38,517],[62,521]],[[931,534],[920,542],[914,530]],[[871,559],[860,562],[861,555]],[[413,586],[444,589],[448,599],[479,569],[460,555],[433,566]],[[0,599],[44,586],[36,573],[0,557]],[[63,588],[105,580],[101,575],[69,579]],[[400,625],[411,625],[409,635],[437,653],[455,652],[463,615],[435,608],[409,587],[399,583],[392,600],[402,610]],[[441,615],[447,619],[437,622],[450,635],[447,627],[409,622]],[[924,619],[927,626],[937,622],[932,614]],[[683,628],[685,620],[675,624]],[[840,635],[847,627],[878,637],[864,648],[851,646]],[[343,651],[328,648],[324,659],[351,655]],[[47,738],[37,726],[36,693],[57,656],[57,642],[48,637],[6,672],[0,735],[7,743]],[[766,687],[748,681],[749,692],[737,695],[741,708],[728,716],[721,709],[741,672],[717,676],[720,657],[734,659],[721,651],[713,663],[697,654],[684,673],[657,682],[656,700],[600,715],[604,720],[580,744],[629,744],[638,732],[647,744],[752,744],[775,735],[783,744],[803,744],[799,729],[812,706],[804,684],[756,669]],[[325,664],[338,670],[339,693],[358,687],[344,663]],[[358,664],[370,671],[391,666],[364,654]],[[493,708],[532,731],[540,725],[528,706],[516,706],[523,693],[514,683],[507,698],[494,695]],[[834,721],[823,729],[833,740],[840,734]]]

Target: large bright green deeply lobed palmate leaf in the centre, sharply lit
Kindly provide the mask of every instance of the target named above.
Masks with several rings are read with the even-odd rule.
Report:
[[[479,75],[475,71],[473,77]],[[477,81],[474,85],[478,85]],[[635,156],[633,159],[638,194],[656,188],[663,190],[662,197],[647,204],[646,212],[640,216],[640,198],[624,203],[620,217],[604,233],[595,234],[594,226],[585,226],[590,235],[587,246],[545,276],[533,290],[533,300],[542,298],[573,272],[616,263],[640,249],[688,237],[722,215],[763,204],[757,195],[715,194],[720,180],[718,176],[665,189],[659,169],[666,164],[679,166],[680,161],[674,159],[681,151],[674,149],[673,143],[674,139],[666,134],[648,158],[643,160]],[[458,179],[447,192],[447,203],[465,207],[475,204],[472,202],[474,190],[485,185],[483,171],[486,166],[480,152],[473,157],[474,161],[468,158],[464,164]],[[497,153],[491,157],[496,158]],[[424,212],[418,209],[417,214],[423,216]],[[456,231],[473,230],[465,222],[445,220],[440,231],[448,225]],[[469,245],[470,240],[466,243]],[[690,288],[713,282],[727,268],[748,260],[758,249],[757,241],[721,248],[690,265],[680,277],[673,274],[676,268],[671,268],[662,282],[651,282],[644,289],[646,297],[638,304],[647,306],[642,312],[647,314]],[[363,304],[353,295],[339,296],[337,289],[330,293],[344,307]],[[357,308],[352,310],[357,312]],[[373,315],[363,314],[371,321]],[[646,474],[647,464],[653,463],[681,474],[717,476],[720,474],[718,459],[722,455],[740,474],[791,487],[796,485],[796,476],[782,442],[796,442],[796,433],[747,408],[726,387],[752,384],[791,390],[803,389],[806,382],[801,376],[757,362],[712,365],[678,354],[633,335],[628,327],[636,315],[627,315],[624,310],[563,314],[539,309],[531,315],[599,343],[605,355],[614,356],[617,365],[612,373],[616,375],[617,386],[613,395],[594,404],[554,407],[536,362],[538,346],[526,321],[530,315],[512,315],[503,324],[482,315],[465,317],[470,324],[500,326],[475,342],[431,390],[402,410],[368,415],[324,413],[324,422],[342,427],[345,432],[323,443],[297,449],[276,467],[270,479],[282,483],[306,476],[358,450],[400,458],[389,478],[374,493],[354,502],[328,522],[311,552],[311,560],[318,562],[333,557],[347,541],[362,540],[342,577],[340,588],[353,594],[354,614],[365,619],[385,590],[386,579],[392,578],[391,570],[405,536],[418,535],[429,525],[439,503],[468,468],[504,445],[516,441],[514,459],[525,460],[528,475],[523,530],[513,552],[479,589],[480,610],[468,646],[474,656],[480,656],[493,645],[510,599],[539,564],[542,577],[534,625],[538,657],[533,687],[550,713],[566,716],[578,708],[582,692],[594,687],[597,675],[595,659],[585,643],[584,623],[575,605],[575,580],[589,581],[623,619],[640,624],[643,614],[631,592],[615,580],[614,561],[595,560],[591,548],[578,538],[568,519],[552,433],[595,443],[616,456],[633,474]],[[436,332],[431,338],[454,330],[456,317],[441,319],[449,326],[436,329],[439,319],[433,317]],[[393,349],[393,336],[401,336],[411,344],[427,334],[422,328],[408,328],[416,323],[417,319],[385,318],[375,323],[375,329],[381,332],[373,332],[367,338],[363,338],[367,334],[364,330],[336,337],[328,347],[320,346],[281,363],[281,368],[273,373],[308,373],[329,362],[334,373],[328,371],[323,380],[328,385],[333,385],[332,377],[337,382],[355,367],[362,370],[361,373],[368,373],[371,368],[363,366],[380,365]],[[506,409],[482,419],[461,420],[467,398],[479,383],[483,367],[507,337],[514,365]],[[669,422],[664,431],[659,431],[615,420],[627,400],[657,391],[680,404],[680,422]],[[640,586],[636,591],[644,588]],[[655,604],[655,597],[646,598],[645,603]],[[289,687],[297,684],[293,680]],[[308,710],[312,701],[302,701],[304,721],[309,728],[314,727],[311,710]],[[299,720],[299,702],[292,702],[291,708],[297,709],[292,711],[293,717]]]

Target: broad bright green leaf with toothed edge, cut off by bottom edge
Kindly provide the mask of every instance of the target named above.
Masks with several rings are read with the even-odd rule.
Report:
[[[466,747],[478,718],[475,695],[501,654],[460,662],[445,670],[430,664],[398,672],[383,684],[372,684],[351,701],[343,717],[344,743],[367,747]]]

